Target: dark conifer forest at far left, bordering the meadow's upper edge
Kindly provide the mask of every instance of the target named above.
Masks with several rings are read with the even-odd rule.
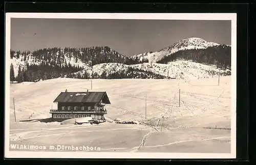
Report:
[[[14,75],[14,68],[13,64],[10,66],[10,81],[17,81],[17,82],[23,82],[23,81],[39,81],[40,79],[52,79],[52,78],[58,78],[63,75],[69,74],[71,72],[77,72],[81,70],[80,67],[76,66],[51,66],[46,64],[40,64],[40,65],[29,65],[26,66],[18,66],[18,73],[15,76]]]

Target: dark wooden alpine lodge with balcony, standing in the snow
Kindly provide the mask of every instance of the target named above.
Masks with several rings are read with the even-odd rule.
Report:
[[[61,92],[53,101],[57,109],[50,109],[54,121],[92,117],[103,119],[105,104],[111,104],[106,92]]]

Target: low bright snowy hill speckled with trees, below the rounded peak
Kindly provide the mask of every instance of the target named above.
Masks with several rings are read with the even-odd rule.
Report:
[[[190,61],[178,60],[170,62],[168,64],[157,64],[157,63],[143,63],[135,65],[125,65],[119,63],[104,63],[94,65],[93,68],[88,67],[76,73],[73,73],[73,78],[83,78],[84,74],[87,74],[88,78],[92,78],[93,74],[97,74],[97,78],[101,78],[104,74],[104,78],[112,78],[111,75],[115,73],[122,73],[124,77],[129,77],[131,70],[135,72],[145,72],[148,74],[146,78],[155,78],[154,76],[159,75],[159,78],[174,78],[174,79],[198,79],[198,78],[209,78],[216,77],[220,72],[221,75],[230,75],[230,70],[222,69],[219,70],[214,66],[199,64]],[[151,76],[151,74],[155,74]],[[79,77],[78,77],[79,74]],[[65,76],[67,77],[67,75]],[[95,78],[95,77],[94,77]],[[139,75],[133,78],[143,78]]]

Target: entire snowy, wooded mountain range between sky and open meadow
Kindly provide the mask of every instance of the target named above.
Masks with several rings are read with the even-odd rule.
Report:
[[[223,52],[224,56],[222,57]],[[177,41],[156,52],[141,53],[139,54],[140,56],[137,55],[125,57],[108,46],[86,48],[65,47],[64,49],[54,47],[38,49],[32,53],[30,51],[15,52],[11,50],[11,64],[13,65],[11,66],[10,76],[12,77],[11,80],[19,77],[19,81],[20,79],[24,80],[24,76],[29,77],[25,79],[31,81],[58,78],[67,75],[77,78],[76,74],[80,71],[94,71],[93,68],[98,68],[95,71],[97,72],[102,71],[102,66],[105,66],[109,70],[105,70],[104,74],[112,74],[112,78],[154,78],[154,76],[157,78],[203,78],[216,75],[216,69],[222,65],[230,67],[231,59],[229,47],[196,37]],[[183,62],[181,63],[180,61],[182,60]],[[184,60],[187,62],[184,62]],[[195,63],[201,63],[202,65]],[[120,69],[119,64],[124,69]],[[179,67],[176,64],[182,66],[181,71],[177,69]],[[208,66],[210,65],[214,65],[214,67],[212,68],[211,66],[209,68]],[[141,66],[146,67],[143,68]],[[196,68],[197,71],[189,72],[184,68],[190,68],[192,70]],[[172,76],[166,75],[167,70],[168,72],[174,72],[171,74]],[[230,74],[227,68],[222,70],[225,70],[223,74]],[[78,78],[82,78],[79,74]],[[110,78],[104,76],[104,74],[103,76],[102,73],[94,76],[90,73],[88,77]],[[190,74],[193,76],[190,76]]]

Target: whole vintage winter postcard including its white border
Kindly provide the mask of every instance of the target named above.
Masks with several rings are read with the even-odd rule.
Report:
[[[236,14],[7,13],[8,158],[236,158]]]

